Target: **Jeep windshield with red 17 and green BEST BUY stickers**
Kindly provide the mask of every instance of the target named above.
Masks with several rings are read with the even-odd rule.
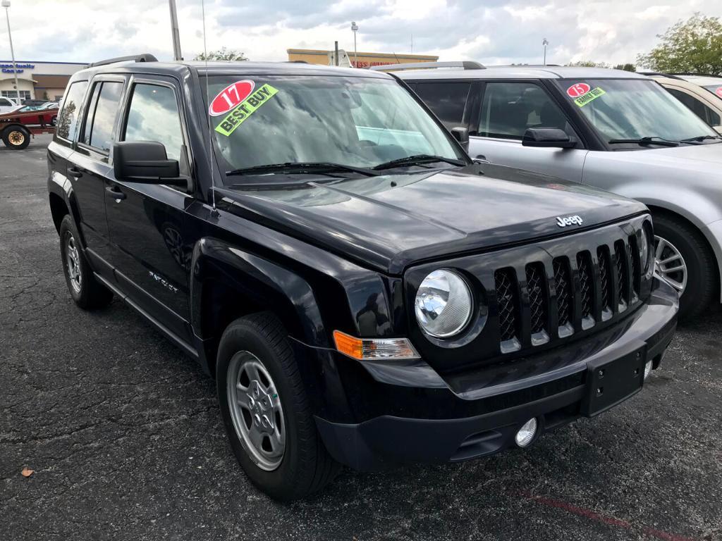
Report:
[[[209,76],[209,97],[225,171],[284,163],[373,168],[418,154],[466,159],[443,128],[391,80]]]

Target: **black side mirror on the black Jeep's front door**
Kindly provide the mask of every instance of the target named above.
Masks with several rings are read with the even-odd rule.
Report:
[[[121,141],[113,144],[113,172],[118,180],[147,184],[188,185],[179,177],[177,159],[168,159],[157,141]]]

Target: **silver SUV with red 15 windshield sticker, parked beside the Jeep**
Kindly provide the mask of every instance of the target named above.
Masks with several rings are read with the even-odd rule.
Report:
[[[720,299],[722,137],[659,84],[627,71],[474,62],[384,66],[469,154],[645,203],[681,317]]]

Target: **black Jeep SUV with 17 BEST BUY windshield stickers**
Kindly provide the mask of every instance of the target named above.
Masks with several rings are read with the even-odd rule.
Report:
[[[75,74],[48,148],[68,288],[198,359],[274,498],[526,447],[660,363],[642,204],[472,162],[387,74],[138,60]]]

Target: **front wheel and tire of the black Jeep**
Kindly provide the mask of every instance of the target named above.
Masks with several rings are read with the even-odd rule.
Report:
[[[340,465],[323,447],[282,323],[241,317],[222,335],[216,367],[223,423],[251,482],[291,501],[321,490]]]

